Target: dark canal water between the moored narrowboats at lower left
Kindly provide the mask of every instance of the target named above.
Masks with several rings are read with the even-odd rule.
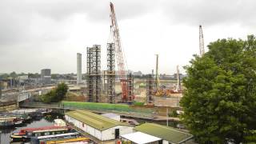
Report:
[[[58,114],[59,115],[59,114]],[[56,118],[56,114],[47,114],[46,116],[43,116],[42,118],[31,120],[30,122],[24,123],[22,126],[17,127],[10,127],[10,128],[0,128],[1,133],[1,144],[9,144],[10,134],[16,133],[21,129],[24,128],[32,128],[32,127],[41,127],[41,126],[54,126],[54,119]]]

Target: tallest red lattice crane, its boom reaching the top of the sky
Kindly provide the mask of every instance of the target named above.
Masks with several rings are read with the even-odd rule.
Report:
[[[114,5],[110,2],[110,18],[111,18],[111,26],[110,30],[113,34],[113,41],[116,50],[116,58],[118,64],[118,75],[121,82],[122,87],[122,102],[131,102],[134,98],[133,95],[128,94],[128,80],[126,78],[126,58],[123,54],[121,38],[118,30],[118,22],[114,12]]]

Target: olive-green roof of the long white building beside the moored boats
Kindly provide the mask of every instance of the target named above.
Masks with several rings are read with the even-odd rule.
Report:
[[[130,126],[124,122],[118,122],[113,119],[106,118],[102,115],[94,114],[86,110],[74,110],[67,112],[66,115],[101,131],[109,129],[114,126]]]

